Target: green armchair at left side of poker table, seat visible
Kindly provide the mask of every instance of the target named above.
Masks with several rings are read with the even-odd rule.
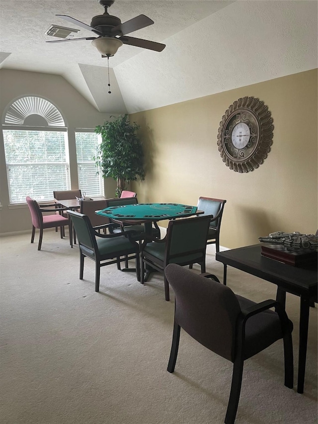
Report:
[[[79,212],[68,210],[73,226],[75,228],[79,242],[79,279],[83,279],[84,258],[89,257],[95,261],[95,291],[99,291],[100,267],[127,260],[127,255],[131,259],[136,258],[136,274],[140,280],[139,245],[129,240],[130,233],[126,236],[118,234],[100,234],[96,230],[98,227],[91,226],[88,216]],[[100,228],[105,228],[111,224],[105,224]],[[123,256],[123,257],[122,257]]]

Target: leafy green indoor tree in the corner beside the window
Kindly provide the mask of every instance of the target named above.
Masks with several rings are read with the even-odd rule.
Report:
[[[95,132],[102,137],[94,157],[95,165],[103,178],[117,180],[118,197],[126,189],[127,182],[145,178],[143,146],[136,134],[139,128],[136,122],[129,121],[127,114],[95,127]]]

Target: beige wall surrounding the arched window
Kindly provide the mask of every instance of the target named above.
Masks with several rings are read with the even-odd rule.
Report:
[[[109,114],[99,113],[61,76],[8,69],[0,70],[0,116],[3,116],[6,107],[12,101],[24,95],[44,97],[62,113],[68,126],[71,184],[73,189],[79,188],[74,129],[95,128],[105,119],[109,119]],[[113,197],[115,187],[116,184],[113,180],[106,180],[105,195]],[[2,131],[0,131],[0,202],[0,234],[32,228],[30,212],[26,204],[9,205]]]

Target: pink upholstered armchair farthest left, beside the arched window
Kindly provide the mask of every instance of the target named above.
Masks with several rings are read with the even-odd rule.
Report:
[[[31,197],[26,197],[26,202],[30,209],[31,218],[32,218],[32,236],[31,243],[34,242],[35,229],[38,228],[40,230],[40,238],[38,250],[41,250],[42,245],[42,237],[43,237],[43,229],[45,228],[54,228],[60,227],[61,229],[61,239],[63,239],[63,228],[68,225],[69,226],[69,234],[70,234],[70,244],[72,246],[72,227],[70,225],[71,221],[69,218],[65,218],[62,215],[52,214],[43,216],[43,212],[60,212],[67,210],[68,208],[56,208],[55,204],[47,204],[39,206],[36,200],[31,199]],[[51,207],[51,209],[48,209]]]

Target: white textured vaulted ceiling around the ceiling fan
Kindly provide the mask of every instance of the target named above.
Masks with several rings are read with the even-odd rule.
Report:
[[[317,68],[318,2],[294,0],[116,0],[122,22],[154,25],[129,35],[166,44],[161,52],[122,46],[107,59],[90,41],[47,44],[55,14],[90,24],[97,0],[0,1],[0,67],[59,74],[99,111],[136,112]],[[79,28],[76,37],[92,33]]]

